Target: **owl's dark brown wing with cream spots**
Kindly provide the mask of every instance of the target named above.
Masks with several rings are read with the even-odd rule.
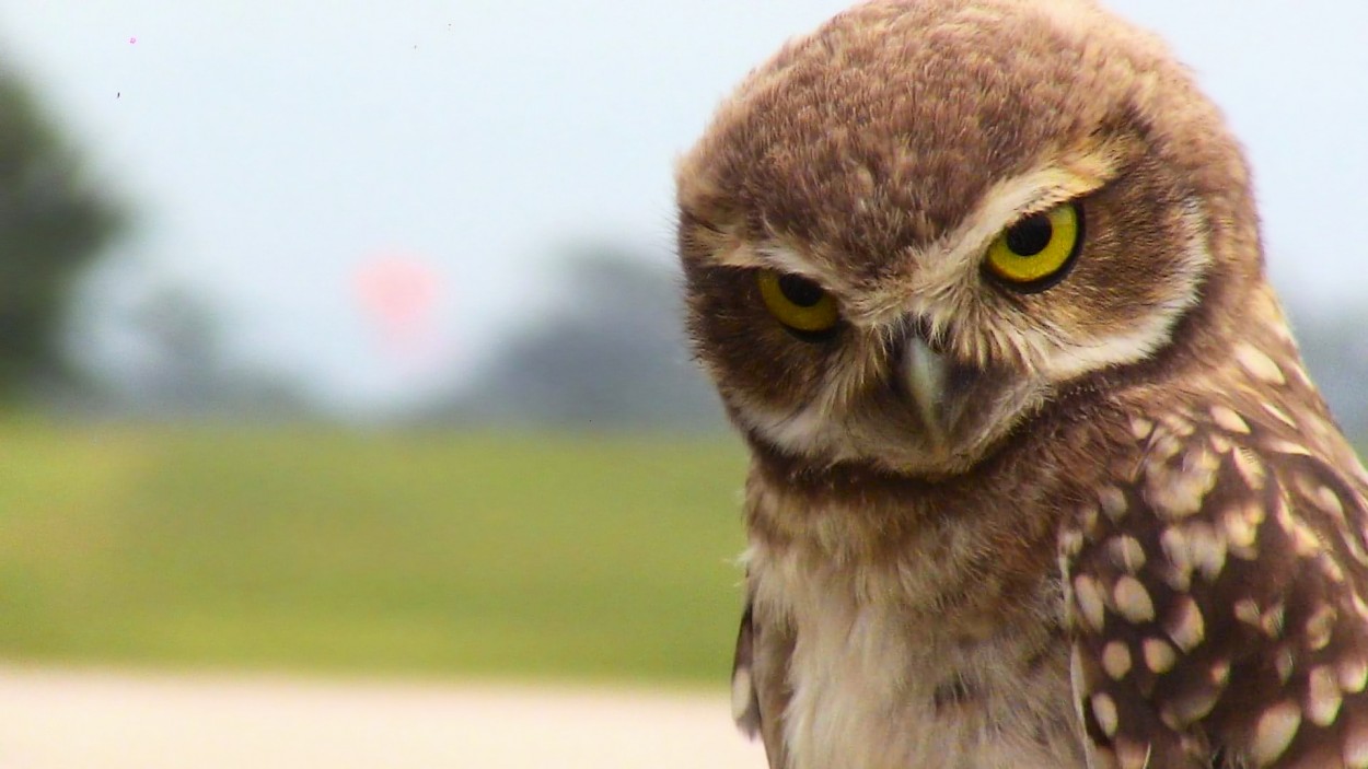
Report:
[[[1368,766],[1361,469],[1226,405],[1135,420],[1060,538],[1093,766]]]

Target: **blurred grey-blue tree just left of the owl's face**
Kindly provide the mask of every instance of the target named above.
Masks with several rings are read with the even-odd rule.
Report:
[[[577,427],[718,427],[669,272],[617,246],[579,248],[560,304],[513,335],[453,404],[424,417]]]

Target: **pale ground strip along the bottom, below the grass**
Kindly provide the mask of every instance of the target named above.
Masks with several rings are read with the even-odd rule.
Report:
[[[4,769],[763,769],[718,694],[0,668]]]

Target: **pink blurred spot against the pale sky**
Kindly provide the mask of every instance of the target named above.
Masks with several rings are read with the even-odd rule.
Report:
[[[357,298],[386,346],[412,353],[430,337],[432,305],[442,293],[440,276],[421,260],[382,252],[363,263],[353,275]]]

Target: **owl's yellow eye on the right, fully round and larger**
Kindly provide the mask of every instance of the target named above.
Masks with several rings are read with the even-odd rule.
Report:
[[[1007,227],[988,246],[988,270],[1015,289],[1048,289],[1063,278],[1082,241],[1082,211],[1073,203],[1056,205]]]

